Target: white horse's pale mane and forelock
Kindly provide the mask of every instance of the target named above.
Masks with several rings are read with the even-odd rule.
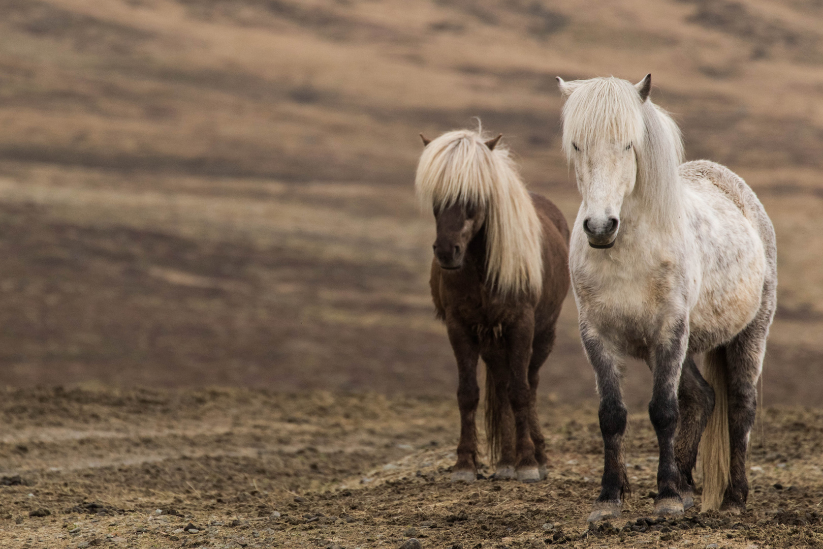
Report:
[[[637,154],[637,191],[666,225],[680,207],[678,166],[684,160],[680,128],[651,100],[641,101],[630,81],[615,77],[563,82],[563,151],[610,141],[632,144]]]

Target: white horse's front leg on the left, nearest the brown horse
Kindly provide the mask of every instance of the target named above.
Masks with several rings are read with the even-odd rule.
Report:
[[[627,412],[621,390],[620,358],[607,350],[607,342],[580,320],[580,337],[589,363],[597,377],[597,392],[600,393],[600,432],[603,436],[603,477],[600,495],[594,501],[588,522],[601,519],[615,519],[621,515],[623,497],[630,493],[629,478],[625,472],[623,457],[623,435]]]

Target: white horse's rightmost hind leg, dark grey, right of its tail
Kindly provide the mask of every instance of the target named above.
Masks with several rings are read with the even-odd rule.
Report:
[[[746,479],[746,452],[751,427],[755,424],[757,380],[765,356],[770,314],[759,314],[726,346],[728,435],[731,463],[729,485],[720,509],[734,514],[746,510],[749,482]]]

